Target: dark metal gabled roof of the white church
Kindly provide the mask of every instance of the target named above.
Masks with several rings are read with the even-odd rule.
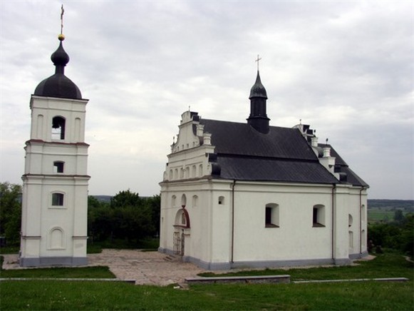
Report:
[[[341,183],[319,163],[313,149],[296,128],[270,126],[269,133],[260,133],[247,123],[200,118],[200,124],[204,125],[205,132],[212,134],[214,178]],[[341,172],[351,176],[348,183],[367,186],[336,151],[333,156],[343,168]]]

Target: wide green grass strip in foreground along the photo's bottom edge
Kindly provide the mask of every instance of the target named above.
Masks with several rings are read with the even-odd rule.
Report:
[[[2,282],[1,310],[413,310],[412,282],[195,285]]]

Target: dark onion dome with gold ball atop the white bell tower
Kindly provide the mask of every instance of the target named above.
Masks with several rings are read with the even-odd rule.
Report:
[[[82,99],[82,94],[78,86],[70,78],[65,76],[65,66],[69,62],[68,53],[63,49],[62,44],[65,37],[60,34],[58,39],[61,43],[51,56],[51,60],[56,66],[55,74],[41,81],[36,87],[34,95]]]

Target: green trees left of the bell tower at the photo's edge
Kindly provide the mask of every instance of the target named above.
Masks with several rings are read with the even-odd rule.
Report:
[[[0,235],[18,245],[21,230],[21,185],[0,183]]]

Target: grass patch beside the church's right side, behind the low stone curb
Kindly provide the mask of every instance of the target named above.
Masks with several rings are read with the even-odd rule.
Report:
[[[249,276],[249,275],[291,275],[291,280],[341,280],[377,277],[408,277],[413,280],[413,262],[408,262],[397,253],[377,255],[374,260],[361,260],[356,266],[311,267],[307,269],[292,268],[289,270],[266,269],[246,270],[214,274],[200,273],[200,276]],[[392,267],[392,268],[391,268]]]

